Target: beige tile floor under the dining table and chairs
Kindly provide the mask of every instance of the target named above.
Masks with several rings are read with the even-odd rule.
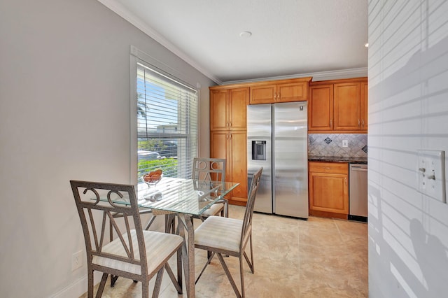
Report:
[[[232,218],[242,218],[244,207],[230,206],[229,213]],[[363,222],[316,217],[298,220],[255,213],[253,242],[255,274],[244,264],[248,298],[368,296],[367,225]],[[195,253],[197,274],[206,257],[202,250]],[[226,262],[239,285],[237,258],[228,257]],[[125,278],[118,278],[113,288],[108,282],[103,293],[103,297],[111,298],[140,296],[141,283]],[[186,294],[178,295],[165,274],[160,297]],[[197,283],[196,297],[235,297],[217,257]]]

